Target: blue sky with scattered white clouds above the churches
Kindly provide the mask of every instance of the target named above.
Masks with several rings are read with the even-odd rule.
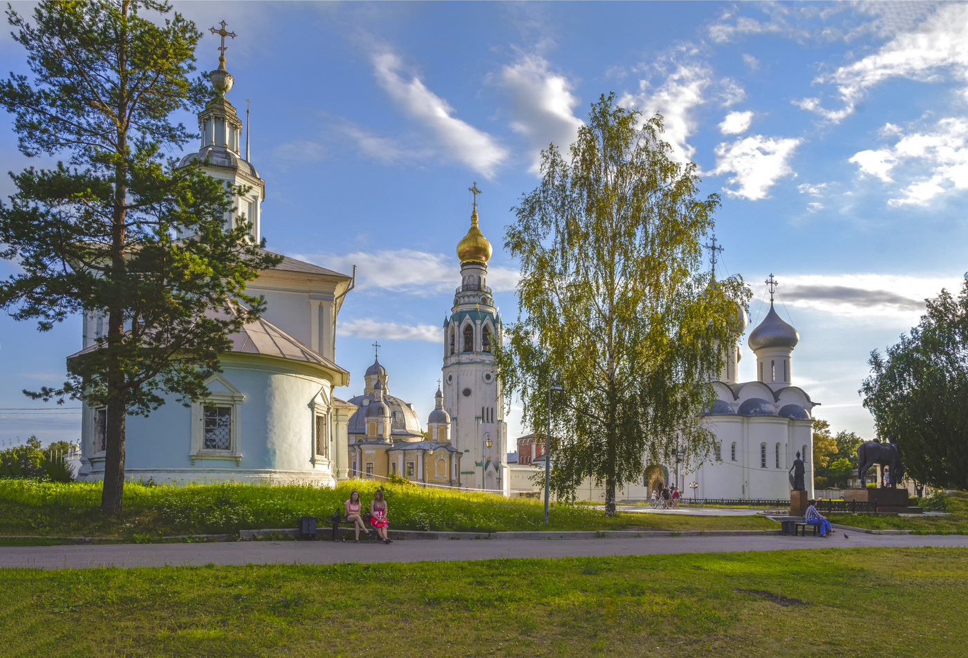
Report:
[[[459,283],[454,248],[477,181],[495,245],[489,283],[514,320],[511,208],[538,152],[570,143],[589,105],[661,112],[675,156],[722,195],[722,266],[754,292],[750,330],[779,282],[798,328],[794,383],[835,431],[871,434],[858,389],[872,349],[956,289],[968,263],[968,5],[930,3],[178,2],[200,28],[227,20],[228,99],[252,101],[252,162],[266,182],[268,248],[348,272],[337,360],[362,389],[374,340],[390,391],[433,408],[439,330]],[[30,5],[15,3],[29,11]],[[23,72],[6,35],[0,70]],[[218,39],[198,46],[218,63]],[[193,116],[182,118],[195,126]],[[0,117],[4,170],[30,163]],[[187,145],[185,152],[197,144]],[[181,155],[181,154],[173,154]],[[44,160],[39,164],[47,164]],[[0,180],[0,196],[11,194]],[[0,276],[14,270],[0,263]],[[769,302],[768,302],[769,303]],[[76,438],[70,412],[22,388],[54,384],[79,321],[46,334],[0,315],[0,440]],[[754,358],[742,342],[741,378]],[[519,418],[508,419],[511,436]]]

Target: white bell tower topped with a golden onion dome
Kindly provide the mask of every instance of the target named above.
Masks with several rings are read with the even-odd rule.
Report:
[[[507,425],[494,359],[502,331],[487,285],[492,248],[478,226],[476,183],[469,192],[470,228],[457,244],[461,285],[443,323],[443,408],[450,415],[451,443],[462,454],[461,485],[506,494]]]

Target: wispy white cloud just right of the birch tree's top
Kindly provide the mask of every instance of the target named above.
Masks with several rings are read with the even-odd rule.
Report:
[[[679,64],[654,91],[650,91],[648,80],[640,80],[639,93],[622,96],[619,105],[638,108],[646,118],[656,112],[661,114],[665,119],[663,139],[673,147],[672,158],[686,162],[696,152],[687,142],[698,125],[691,110],[706,102],[703,94],[711,81],[711,70],[706,65]]]

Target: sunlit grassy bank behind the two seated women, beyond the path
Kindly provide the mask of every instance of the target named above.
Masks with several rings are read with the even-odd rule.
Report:
[[[350,481],[336,489],[310,486],[125,485],[121,519],[101,515],[100,483],[40,483],[0,480],[0,535],[107,537],[124,540],[166,535],[235,534],[240,529],[296,527],[301,516],[325,524],[356,489],[369,504],[377,485]],[[764,529],[779,527],[755,517],[661,517],[619,514],[582,505],[553,505],[543,523],[541,501],[486,493],[427,491],[412,485],[384,486],[391,527],[408,530],[494,532],[499,530]],[[2,542],[2,540],[0,540]]]

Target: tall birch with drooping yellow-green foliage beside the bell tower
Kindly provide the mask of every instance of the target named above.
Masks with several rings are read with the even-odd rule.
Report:
[[[504,244],[521,280],[501,380],[536,434],[549,382],[560,383],[553,489],[571,497],[591,477],[610,515],[644,459],[709,455],[701,415],[726,356],[719,339],[749,296],[739,277],[699,274],[719,198],[699,198],[696,166],[671,160],[661,135],[661,116],[643,121],[602,96],[568,161],[554,144],[542,153],[541,183],[515,208]]]

